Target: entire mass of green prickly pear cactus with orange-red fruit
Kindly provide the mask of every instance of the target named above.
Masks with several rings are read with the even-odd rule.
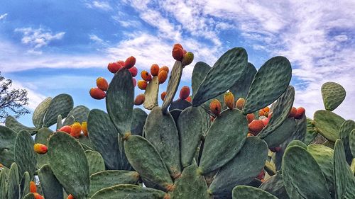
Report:
[[[355,122],[332,112],[344,101],[342,86],[323,84],[325,110],[306,118],[293,107],[288,59],[273,57],[257,71],[235,47],[213,67],[197,62],[192,95],[184,86],[173,101],[193,54],[181,45],[172,54],[161,106],[168,67],[141,72],[139,101],[129,57],[110,63],[111,82],[99,78],[90,90],[105,98],[107,113],[73,108],[60,94],[35,109],[35,127],[7,118],[0,198],[355,198]],[[318,136],[327,142],[312,143]]]

